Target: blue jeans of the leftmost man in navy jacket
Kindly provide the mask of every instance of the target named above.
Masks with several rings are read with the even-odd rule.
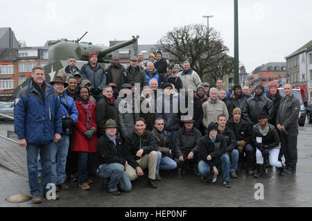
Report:
[[[46,145],[30,144],[26,147],[27,153],[27,170],[28,170],[28,182],[31,189],[31,195],[39,195],[41,193],[38,182],[38,152],[40,150],[40,158],[42,161],[42,187],[43,194],[48,191],[46,184],[51,183],[51,162],[52,162],[52,148],[53,143]]]

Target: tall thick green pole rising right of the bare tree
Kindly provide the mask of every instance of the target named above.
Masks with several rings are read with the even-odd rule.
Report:
[[[234,84],[239,84],[239,7],[234,0]]]

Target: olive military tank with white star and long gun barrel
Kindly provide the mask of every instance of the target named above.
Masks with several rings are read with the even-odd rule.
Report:
[[[85,33],[86,35],[87,33]],[[83,35],[83,37],[85,36]],[[76,67],[81,69],[83,64],[89,61],[89,53],[96,53],[98,55],[98,63],[105,69],[107,64],[112,61],[112,52],[128,46],[130,44],[135,44],[135,55],[137,56],[137,39],[139,36],[132,36],[132,39],[122,42],[120,44],[115,44],[114,46],[100,46],[94,45],[91,42],[80,42],[83,38],[77,40],[60,39],[49,42],[49,64],[44,66],[44,74],[46,81],[50,82],[58,74],[58,71],[64,67],[67,67],[67,59],[69,57],[76,58]],[[31,78],[31,77],[30,77]],[[29,78],[14,91],[14,96],[28,84]]]

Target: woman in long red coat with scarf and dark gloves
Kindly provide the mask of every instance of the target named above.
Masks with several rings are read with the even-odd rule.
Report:
[[[88,160],[91,159],[92,152],[96,152],[96,114],[95,104],[89,100],[90,91],[87,87],[78,90],[78,98],[75,101],[78,109],[78,121],[73,130],[71,151],[78,152],[78,177],[79,186],[83,190],[90,188],[92,183],[88,178]]]

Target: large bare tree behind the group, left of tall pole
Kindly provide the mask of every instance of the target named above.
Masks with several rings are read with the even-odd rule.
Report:
[[[223,44],[220,33],[214,28],[208,32],[203,24],[174,28],[159,39],[157,49],[171,54],[180,64],[189,60],[200,78],[211,84],[234,69],[234,60],[227,55],[229,48]]]

